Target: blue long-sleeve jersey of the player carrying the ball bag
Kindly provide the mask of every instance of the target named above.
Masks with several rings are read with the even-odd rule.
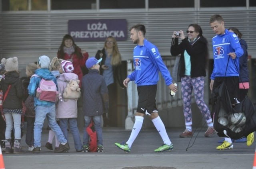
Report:
[[[239,76],[239,57],[243,55],[244,51],[236,34],[225,29],[223,35],[216,35],[212,38],[212,47],[214,68],[211,79],[224,77],[227,64],[226,77]],[[228,53],[230,52],[236,53],[236,59],[229,57]],[[229,62],[228,59],[230,59]]]

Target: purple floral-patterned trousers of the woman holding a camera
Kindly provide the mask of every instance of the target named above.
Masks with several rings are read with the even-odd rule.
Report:
[[[210,110],[204,102],[204,77],[201,76],[191,78],[190,76],[185,76],[181,78],[181,91],[186,126],[192,125],[191,97],[193,89],[196,104],[201,113],[204,115],[206,122],[212,122]]]

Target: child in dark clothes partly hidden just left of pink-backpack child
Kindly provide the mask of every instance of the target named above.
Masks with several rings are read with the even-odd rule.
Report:
[[[28,145],[28,151],[33,151],[34,149],[34,122],[35,122],[35,106],[34,97],[28,94],[28,85],[30,82],[30,77],[34,75],[37,69],[36,63],[29,63],[26,66],[27,77],[23,79],[23,86],[25,90],[24,103],[26,106],[26,120],[27,120],[27,132],[26,132],[26,144]]]

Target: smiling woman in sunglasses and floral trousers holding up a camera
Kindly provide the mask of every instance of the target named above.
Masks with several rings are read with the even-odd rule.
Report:
[[[196,104],[208,125],[208,129],[204,133],[204,136],[208,137],[215,133],[210,110],[204,102],[204,77],[206,76],[209,57],[208,42],[202,35],[202,28],[198,24],[190,24],[186,32],[187,37],[185,37],[182,30],[174,31],[170,49],[173,56],[180,55],[180,67],[178,69],[180,70],[183,112],[186,125],[186,130],[180,134],[180,138],[192,137],[191,98],[193,89]],[[178,44],[178,39],[181,39],[180,44]]]

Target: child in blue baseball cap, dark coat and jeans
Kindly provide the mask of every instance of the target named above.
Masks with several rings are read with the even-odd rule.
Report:
[[[99,74],[102,58],[97,60],[90,57],[86,61],[89,73],[82,78],[83,112],[84,112],[84,145],[83,152],[89,152],[89,135],[86,128],[91,120],[97,134],[97,151],[103,152],[103,138],[101,127],[101,116],[103,112],[108,113],[108,88],[105,79]]]

